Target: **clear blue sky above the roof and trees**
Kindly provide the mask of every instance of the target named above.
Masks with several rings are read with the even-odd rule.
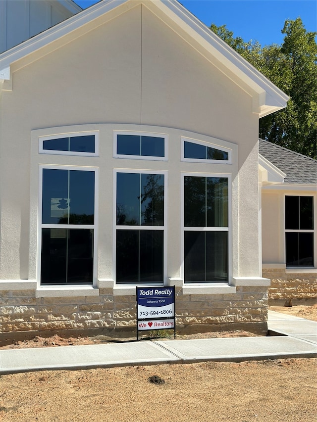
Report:
[[[98,1],[75,0],[86,8]],[[316,0],[180,0],[207,26],[226,25],[234,37],[258,40],[263,46],[282,44],[286,19],[302,18],[307,31],[317,31]]]

